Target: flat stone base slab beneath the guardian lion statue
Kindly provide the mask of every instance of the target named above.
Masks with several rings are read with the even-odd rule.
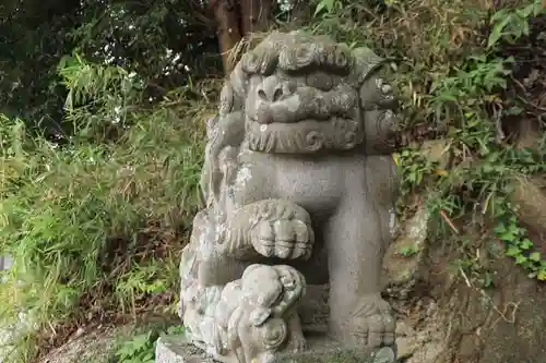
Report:
[[[324,337],[307,338],[308,350],[284,353],[275,363],[395,363],[392,348],[346,348]],[[203,350],[186,340],[183,335],[164,336],[157,340],[155,363],[218,363]]]

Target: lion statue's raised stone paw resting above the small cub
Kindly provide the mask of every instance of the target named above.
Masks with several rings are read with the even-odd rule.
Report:
[[[253,228],[251,241],[254,250],[265,257],[308,259],[314,234],[301,219],[263,220]]]

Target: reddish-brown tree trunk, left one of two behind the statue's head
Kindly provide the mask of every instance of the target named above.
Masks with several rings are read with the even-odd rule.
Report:
[[[216,20],[216,32],[218,35],[219,51],[222,52],[224,74],[228,75],[234,66],[233,62],[229,61],[229,52],[241,39],[239,9],[236,0],[214,0],[211,1],[211,7]]]

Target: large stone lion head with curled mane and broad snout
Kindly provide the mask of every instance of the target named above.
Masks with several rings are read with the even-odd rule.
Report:
[[[396,120],[396,98],[380,76],[384,63],[368,48],[273,33],[236,65],[221,94],[219,117],[242,111],[245,142],[256,152],[363,146],[381,154]]]

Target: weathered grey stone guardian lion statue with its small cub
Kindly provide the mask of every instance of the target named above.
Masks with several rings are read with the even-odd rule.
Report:
[[[207,124],[206,208],[180,265],[187,336],[215,360],[305,350],[316,287],[328,293],[328,339],[394,343],[380,295],[396,191],[384,63],[367,48],[273,33],[225,82]]]

